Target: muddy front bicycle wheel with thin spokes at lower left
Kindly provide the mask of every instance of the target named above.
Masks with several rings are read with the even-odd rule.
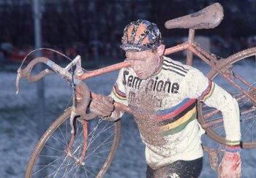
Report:
[[[90,163],[86,162],[86,164],[84,166],[82,166],[82,165],[79,165],[78,161],[75,161],[75,159],[69,158],[67,156],[67,154],[64,152],[64,150],[67,149],[68,141],[66,140],[65,142],[61,142],[61,141],[56,140],[56,138],[54,138],[56,136],[59,136],[59,133],[57,131],[60,131],[61,132],[60,137],[63,137],[62,139],[68,139],[68,138],[70,139],[70,136],[71,136],[71,133],[70,133],[71,127],[69,125],[70,114],[71,114],[71,109],[67,109],[67,111],[64,112],[64,114],[61,115],[57,120],[55,120],[52,123],[52,125],[50,125],[48,130],[45,131],[45,133],[43,134],[43,136],[37,143],[37,146],[34,148],[34,152],[31,155],[31,158],[29,160],[29,163],[28,163],[28,166],[26,169],[26,174],[25,174],[26,178],[30,178],[30,177],[103,177],[104,176],[104,174],[110,167],[110,164],[116,154],[116,149],[118,147],[118,142],[119,142],[119,136],[121,133],[120,120],[117,120],[116,122],[109,122],[109,121],[104,121],[104,120],[99,119],[100,123],[97,125],[97,127],[102,130],[99,131],[99,133],[98,133],[97,129],[95,129],[95,128],[91,129],[91,131],[93,131],[94,133],[89,133],[89,138],[88,138],[89,144],[87,147],[86,158],[85,158],[85,162],[86,162],[86,160],[91,161],[91,159],[93,159],[93,161],[91,161]],[[89,122],[91,122],[91,121],[93,121],[93,120],[90,120]],[[75,123],[77,126],[76,131],[78,131],[79,125],[81,125],[81,124],[78,120],[76,120]],[[108,126],[104,126],[102,128],[102,126],[100,126],[100,124],[102,124],[102,123],[104,123],[105,125],[108,125]],[[89,123],[89,125],[90,124],[91,123]],[[94,127],[95,123],[93,123],[92,125]],[[61,131],[64,127],[69,129],[69,131],[65,131],[65,133],[67,134],[66,136],[64,136],[64,132]],[[108,131],[108,129],[111,129],[111,131]],[[108,132],[114,132],[114,133],[108,133]],[[103,136],[107,137],[107,142],[105,142],[105,140],[102,142],[102,138],[98,136],[100,133],[104,133],[104,135],[102,135],[102,137]],[[110,134],[112,134],[112,136]],[[108,136],[106,136],[106,135],[108,135]],[[72,150],[75,149],[75,151],[72,152],[72,154],[74,154],[74,155],[80,154],[80,152],[81,152],[80,147],[82,147],[82,146],[79,146],[79,144],[83,144],[83,142],[80,143],[80,141],[81,141],[80,136],[83,136],[83,133],[81,133],[81,132],[76,133],[75,138],[77,138],[77,139],[74,140],[73,145],[75,145],[75,146],[72,147]],[[108,140],[108,138],[110,138],[110,137],[111,137],[111,139],[113,139],[112,141]],[[54,147],[51,148],[50,142],[52,139],[53,139]],[[99,145],[97,145],[98,144],[97,139],[100,140]],[[58,144],[58,146],[59,146],[59,142],[61,142],[60,143],[61,147],[56,146],[56,144]],[[95,144],[96,144],[96,147],[95,147]],[[96,151],[89,151],[90,149],[92,149],[92,148],[90,148],[90,146],[92,148],[95,148]],[[107,150],[107,151],[99,150],[100,149],[99,146],[108,148],[109,150]],[[63,150],[61,150],[61,148]],[[46,149],[46,151],[45,151],[45,149]],[[42,152],[43,150],[44,150],[44,152]],[[45,152],[46,152],[46,154],[45,154]],[[48,158],[48,154],[51,152],[54,152],[54,154],[50,155]],[[59,152],[60,152],[60,154],[59,154]],[[108,156],[103,159],[102,155],[105,154],[105,152]],[[42,155],[40,155],[40,154],[42,154]],[[58,155],[60,155],[59,158],[57,158]],[[89,158],[89,156],[91,156],[93,158]],[[44,160],[40,160],[40,158],[44,158]],[[103,160],[101,160],[101,159],[103,159]],[[47,161],[49,161],[49,162],[47,162]],[[92,167],[91,164],[93,164],[93,162],[95,162],[96,167],[95,166]],[[98,165],[98,162],[102,163],[102,165]],[[40,165],[40,163],[42,163],[42,165]],[[61,168],[61,166],[64,166],[64,168]],[[46,171],[43,171],[43,169],[45,169],[45,168],[46,168]],[[58,169],[58,170],[55,170],[55,169]],[[41,173],[39,174],[39,172],[41,172]]]

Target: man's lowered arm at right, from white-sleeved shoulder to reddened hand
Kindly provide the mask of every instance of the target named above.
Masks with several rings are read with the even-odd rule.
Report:
[[[226,90],[208,80],[197,69],[189,71],[187,80],[184,81],[183,86],[187,85],[187,89],[190,90],[188,97],[197,98],[198,101],[203,101],[208,107],[214,107],[222,112],[227,146],[219,166],[219,177],[240,177],[241,131],[239,107],[236,99]]]

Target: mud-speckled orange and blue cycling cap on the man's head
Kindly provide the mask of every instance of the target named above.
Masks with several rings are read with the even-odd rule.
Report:
[[[157,25],[148,20],[137,20],[124,28],[121,49],[130,52],[152,50],[159,47],[162,36]]]

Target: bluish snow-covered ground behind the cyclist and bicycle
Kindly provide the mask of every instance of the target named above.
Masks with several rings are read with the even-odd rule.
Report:
[[[195,63],[197,68],[207,71],[205,64]],[[252,70],[255,70],[252,66]],[[116,80],[117,72],[95,77],[86,83],[94,93],[108,94]],[[25,80],[20,82],[20,93],[15,95],[14,71],[0,71],[0,177],[23,177],[40,132],[37,120],[37,85]],[[55,118],[60,115],[71,96],[71,90],[57,75],[45,78],[45,115]],[[45,125],[52,120],[45,120]],[[116,157],[106,177],[145,177],[146,162],[144,146],[140,141],[137,126],[131,115],[122,118],[121,142]],[[214,144],[207,136],[203,143]],[[256,177],[256,150],[242,150],[243,177]],[[208,157],[204,157],[203,171],[200,177],[217,177],[211,170]]]

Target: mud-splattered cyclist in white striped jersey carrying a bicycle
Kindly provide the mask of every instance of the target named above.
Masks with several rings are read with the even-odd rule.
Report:
[[[202,72],[165,57],[159,28],[136,20],[124,28],[121,49],[131,67],[119,71],[110,96],[91,101],[90,110],[105,120],[123,112],[113,101],[129,105],[146,144],[146,177],[199,177],[203,167],[197,101],[222,112],[226,142],[219,177],[240,177],[240,123],[236,100]]]

